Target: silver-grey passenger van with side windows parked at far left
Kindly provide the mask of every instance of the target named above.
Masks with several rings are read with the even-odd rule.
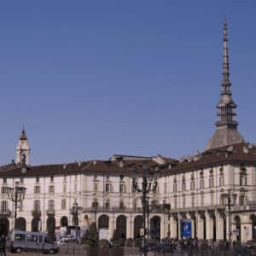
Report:
[[[58,253],[59,248],[45,233],[13,230],[10,233],[10,250],[12,253],[37,251],[53,254]]]

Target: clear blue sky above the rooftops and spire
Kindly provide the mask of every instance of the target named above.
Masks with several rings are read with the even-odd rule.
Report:
[[[1,1],[0,164],[181,157],[215,130],[224,14],[239,131],[256,143],[255,1]]]

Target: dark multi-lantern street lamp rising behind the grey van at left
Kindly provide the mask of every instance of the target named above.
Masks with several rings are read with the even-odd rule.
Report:
[[[18,207],[18,203],[24,200],[26,188],[19,186],[19,182],[15,182],[14,188],[11,188],[11,187],[7,188],[7,193],[8,193],[9,200],[15,203],[14,228],[16,228],[17,207]]]

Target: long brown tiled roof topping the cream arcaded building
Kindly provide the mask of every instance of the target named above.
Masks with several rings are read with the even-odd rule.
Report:
[[[237,143],[231,146],[210,149],[181,161],[166,159],[165,164],[159,164],[153,159],[88,160],[66,165],[28,166],[26,172],[22,172],[21,166],[8,165],[0,167],[0,177],[49,177],[86,172],[130,175],[134,170],[142,172],[144,163],[147,164],[149,169],[159,170],[163,175],[189,172],[229,163],[256,165],[256,146],[251,143]]]

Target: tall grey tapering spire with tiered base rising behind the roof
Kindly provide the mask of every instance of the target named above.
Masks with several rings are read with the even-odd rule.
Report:
[[[217,130],[213,137],[207,143],[206,150],[219,148],[230,144],[241,143],[244,141],[239,131],[237,131],[238,123],[234,119],[236,116],[236,103],[233,102],[230,90],[230,61],[228,52],[228,24],[224,17],[223,28],[223,81],[220,101],[216,108],[218,109],[218,121],[216,122]]]

